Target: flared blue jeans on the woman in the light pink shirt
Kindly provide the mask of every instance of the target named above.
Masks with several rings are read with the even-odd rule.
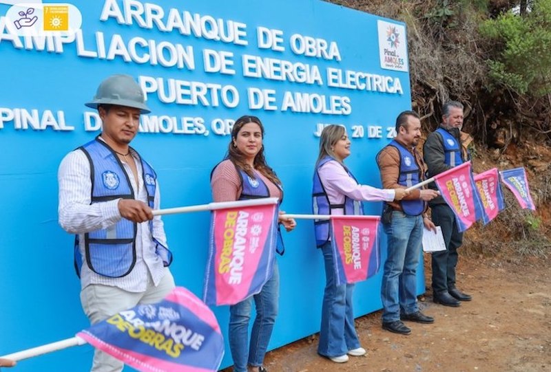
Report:
[[[333,268],[333,251],[331,242],[322,245],[325,263],[325,292],[322,305],[322,326],[318,353],[326,357],[346,354],[347,351],[360,347],[354,328],[352,307],[353,284],[337,285]]]

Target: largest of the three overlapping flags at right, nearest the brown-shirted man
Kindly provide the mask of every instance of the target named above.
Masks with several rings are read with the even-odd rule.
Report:
[[[484,215],[470,162],[435,175],[435,184],[442,197],[453,210],[459,231],[465,231]]]

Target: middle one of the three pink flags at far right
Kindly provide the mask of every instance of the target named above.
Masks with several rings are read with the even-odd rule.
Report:
[[[497,168],[492,168],[489,171],[475,175],[475,183],[477,184],[481,204],[486,212],[482,216],[485,225],[495,219],[499,211],[505,206],[498,173]]]

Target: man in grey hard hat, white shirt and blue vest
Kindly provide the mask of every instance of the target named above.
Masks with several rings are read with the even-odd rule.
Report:
[[[131,76],[99,85],[92,102],[103,122],[94,140],[59,166],[59,223],[76,234],[74,266],[81,303],[92,324],[138,304],[157,303],[174,288],[168,265],[156,173],[129,146],[142,113],[143,91]],[[92,371],[122,371],[123,363],[96,351]]]

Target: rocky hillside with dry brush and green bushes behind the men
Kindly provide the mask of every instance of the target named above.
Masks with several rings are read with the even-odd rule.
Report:
[[[446,100],[465,107],[475,138],[475,171],[524,166],[537,211],[506,210],[466,234],[476,254],[549,257],[551,253],[551,0],[333,0],[404,21],[412,107],[425,133]]]

